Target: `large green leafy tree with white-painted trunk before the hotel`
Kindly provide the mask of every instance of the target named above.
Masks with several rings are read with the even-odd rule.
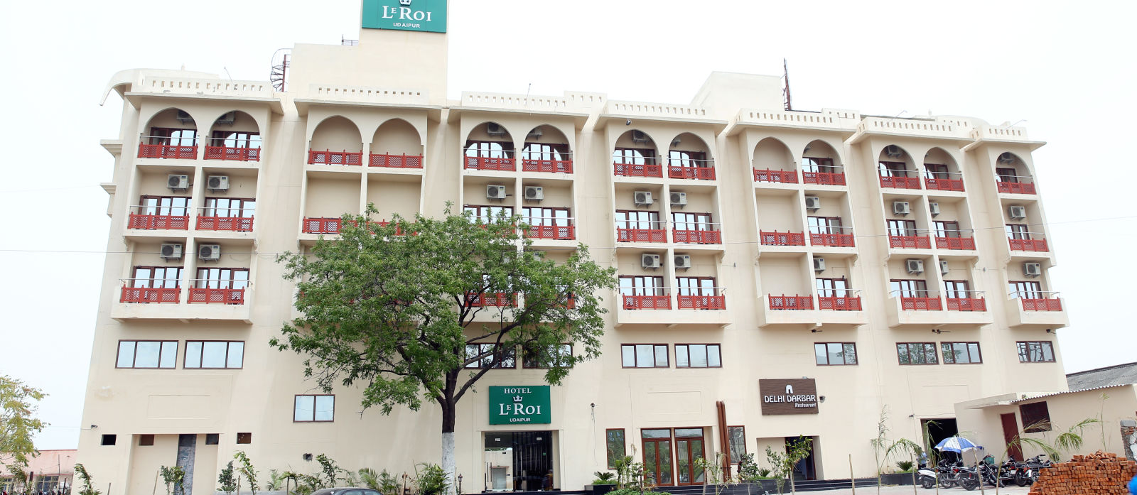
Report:
[[[583,245],[563,263],[545,259],[518,235],[520,217],[475,221],[448,205],[442,219],[379,224],[370,221],[375,212],[368,205],[366,216],[345,216],[339,240],[277,258],[304,316],[272,344],[306,354],[305,375],[329,393],[337,383],[363,385],[364,409],[438,404],[442,469],[453,480],[458,401],[518,347],[548,366],[554,385],[598,356],[605,310],[597,294],[615,287],[615,269],[590,261]],[[492,350],[467,353],[478,343]],[[561,353],[563,343],[575,344],[572,355]]]

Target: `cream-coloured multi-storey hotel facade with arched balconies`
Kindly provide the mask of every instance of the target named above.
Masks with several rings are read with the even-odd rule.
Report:
[[[849,455],[853,475],[870,476],[875,469],[869,439],[875,437],[882,408],[894,436],[916,438],[921,420],[954,418],[958,402],[1012,391],[1065,389],[1057,342],[1048,329],[1065,326],[1067,314],[1053,294],[1039,295],[1061,288],[1051,286],[1046,274],[1055,262],[1053,245],[1041,251],[1037,242],[1045,238],[1046,217],[1034,185],[1031,151],[1043,143],[1028,139],[1024,129],[968,117],[787,111],[778,77],[727,73],[712,74],[690,104],[615,101],[591,92],[463,92],[453,101],[446,98],[446,60],[445,34],[363,30],[354,47],[297,45],[287,92],[265,82],[189,72],[115,75],[107,91],[118,92],[124,103],[119,135],[101,143],[114,157],[113,179],[103,185],[110,195],[111,233],[83,414],[84,426],[98,427],[84,429],[80,439],[80,461],[100,486],[111,484],[108,495],[149,490],[157,468],[180,462],[179,452],[181,462],[193,459],[196,494],[211,493],[217,470],[236,451],[248,453],[263,471],[314,471],[315,463],[304,459],[309,453],[327,454],[349,469],[397,472],[438,462],[440,414],[431,405],[418,412],[396,409],[389,417],[360,412],[359,389],[339,387],[332,421],[293,421],[296,395],[319,392],[304,379],[301,356],[268,347],[282,322],[294,316],[293,287],[282,280],[275,255],[310,246],[321,234],[309,230],[327,228],[319,218],[359,212],[368,202],[379,209],[377,219],[438,216],[447,201],[508,205],[518,213],[526,205],[567,208],[572,238],[536,238],[536,249],[563,259],[584,243],[600,265],[616,267],[621,276],[659,276],[666,287],[650,291],[658,297],[605,294],[605,353],[553,388],[549,425],[488,423],[487,387],[541,384],[543,371],[520,362],[517,369],[489,372],[479,393],[463,398],[457,469],[467,493],[489,488],[489,478],[501,473],[491,473],[493,467],[512,470],[511,462],[491,459],[495,452],[483,448],[487,435],[495,433],[548,431],[554,486],[579,489],[594,471],[606,468],[606,429],[624,429],[626,450],[634,447],[638,459],[641,431],[654,428],[702,430],[705,454],[722,451],[715,406],[722,401],[725,423],[745,427],[746,451],[760,461],[766,445],[781,448],[785,437],[812,436],[815,475],[848,478]],[[171,139],[149,137],[155,128],[192,128],[196,140],[179,148]],[[533,133],[538,128],[540,136]],[[223,137],[259,133],[258,160],[248,160],[249,151],[208,148],[222,144],[211,139],[214,131]],[[468,160],[470,140],[511,143],[518,150],[514,170],[485,169],[501,168],[500,160]],[[559,150],[571,153],[571,173],[563,162],[525,160],[529,156],[520,150],[526,143],[566,146]],[[617,149],[653,150],[658,168],[614,166]],[[683,162],[669,161],[672,151],[713,168],[673,168]],[[241,159],[211,159],[210,153]],[[167,158],[158,158],[163,156]],[[422,168],[370,166],[404,156],[423,157]],[[803,165],[810,158],[822,168]],[[339,160],[362,165],[326,163]],[[916,188],[882,181],[879,161],[906,162]],[[946,170],[926,181],[926,163]],[[1010,179],[1006,170],[1001,176],[996,168],[1014,168],[1016,177]],[[616,170],[659,176],[620,176]],[[683,174],[703,176],[681,178]],[[186,175],[186,188],[168,188],[171,175]],[[211,191],[210,176],[226,176],[229,190]],[[783,182],[769,182],[772,176]],[[815,183],[805,183],[807,176]],[[511,195],[488,200],[488,185],[504,185]],[[523,201],[526,186],[542,187],[543,201]],[[637,205],[638,192],[650,192],[656,201]],[[687,199],[682,208],[670,201],[671,193],[680,192]],[[190,198],[184,215],[177,209],[184,200],[175,196]],[[255,215],[225,219],[200,209],[209,199],[255,199]],[[139,208],[146,201],[157,205]],[[163,201],[175,207],[164,210]],[[894,215],[897,201],[907,201],[910,213]],[[938,204],[937,215],[929,203]],[[1012,205],[1024,207],[1027,218],[1011,219]],[[626,215],[617,211],[628,210],[657,212],[662,224],[655,228],[663,232],[624,230],[653,228],[617,223],[619,215]],[[677,233],[672,213],[709,213],[711,230],[717,234]],[[839,217],[841,225],[811,232],[811,221],[820,221],[811,217]],[[929,244],[891,247],[890,219],[913,220],[914,237]],[[937,247],[935,221],[956,221],[957,227],[945,228],[961,230],[973,245],[954,240]],[[1009,242],[1006,224],[1031,225],[1031,242]],[[800,245],[777,245],[782,237],[760,236],[773,232],[797,234]],[[678,242],[677,234],[703,243]],[[649,242],[653,237],[664,242]],[[894,241],[921,242],[914,237]],[[948,242],[963,249],[946,249]],[[182,244],[182,259],[161,258],[164,243]],[[199,259],[200,246],[213,244],[221,246],[221,259]],[[661,268],[642,268],[645,253],[659,254]],[[677,269],[675,255],[684,254],[691,267]],[[824,271],[815,271],[814,259],[824,259]],[[908,274],[910,259],[923,261],[924,270]],[[1024,262],[1039,263],[1040,275],[1023,275]],[[140,276],[135,267],[182,270],[169,275],[177,282],[166,283],[167,290],[124,290],[163,285],[152,282],[160,277]],[[198,282],[215,277],[209,271],[199,276],[199,269],[217,268],[247,269],[247,285],[229,285],[243,291]],[[147,277],[151,282],[136,280]],[[714,288],[694,292],[711,297],[682,297],[692,292],[678,290],[677,277],[713,277],[698,284]],[[858,302],[823,302],[819,296],[832,294],[819,292],[819,277],[844,278]],[[891,293],[893,279],[924,280],[927,293],[910,295],[928,297]],[[953,299],[964,308],[981,299],[984,310],[949,309],[944,280],[966,280],[969,291],[981,291],[968,293],[962,303],[963,293]],[[1028,292],[1045,301],[1024,307],[1012,299],[1013,280],[1037,283]],[[787,302],[782,296],[797,297]],[[931,299],[941,309],[911,309],[932,304]],[[670,309],[644,308],[664,301]],[[828,304],[861,309],[819,309]],[[1051,310],[1035,310],[1039,304]],[[138,356],[127,363],[119,355],[121,341],[176,344],[153,351],[153,344],[143,344],[147,349],[136,347]],[[240,368],[193,368],[204,352],[199,341],[243,343]],[[978,343],[982,363],[943,363],[945,342]],[[1020,362],[1018,342],[1049,342],[1053,361]],[[815,343],[855,343],[857,364],[819,366]],[[933,343],[938,363],[902,366],[897,343]],[[667,366],[625,368],[622,344],[665,344]],[[675,344],[719,344],[721,367],[679,368]],[[186,358],[191,347],[193,356]],[[238,347],[225,349],[226,359],[235,359]],[[149,352],[158,353],[156,361]],[[172,368],[116,367],[139,362]],[[802,377],[814,379],[823,396],[816,414],[762,413],[758,379]],[[251,442],[238,444],[238,434],[244,433]],[[115,436],[114,445],[100,445],[105,435]],[[153,445],[139,445],[143,435],[153,435]],[[507,486],[518,486],[516,481],[506,480]]]

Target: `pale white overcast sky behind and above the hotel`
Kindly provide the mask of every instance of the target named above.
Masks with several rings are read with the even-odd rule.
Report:
[[[98,106],[110,75],[184,64],[266,81],[279,48],[358,37],[358,0],[2,2],[0,374],[50,394],[39,448],[77,442],[109,227],[99,140],[121,114],[116,95]],[[1137,2],[451,0],[449,17],[453,99],[532,83],[688,103],[712,70],[778,75],[786,57],[795,109],[1022,119],[1051,143],[1034,158],[1071,320],[1067,371],[1137,360],[1123,316]]]

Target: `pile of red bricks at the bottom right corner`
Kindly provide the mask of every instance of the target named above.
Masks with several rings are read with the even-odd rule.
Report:
[[[1137,462],[1097,451],[1044,469],[1030,495],[1128,495],[1135,475]]]

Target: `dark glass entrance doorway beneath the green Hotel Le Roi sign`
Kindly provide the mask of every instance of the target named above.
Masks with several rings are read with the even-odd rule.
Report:
[[[553,431],[487,431],[484,488],[488,492],[556,489]]]

